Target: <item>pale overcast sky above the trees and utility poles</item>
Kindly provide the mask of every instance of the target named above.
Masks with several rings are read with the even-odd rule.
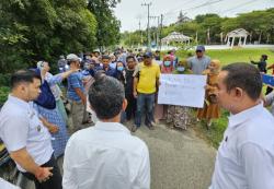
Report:
[[[150,15],[163,14],[163,25],[174,23],[180,11],[191,19],[206,13],[232,17],[239,13],[274,8],[274,0],[121,0],[114,9],[122,24],[121,32],[132,32],[139,27],[145,29],[148,23],[148,7],[141,4],[150,2]],[[150,25],[157,26],[158,19],[151,19]]]

